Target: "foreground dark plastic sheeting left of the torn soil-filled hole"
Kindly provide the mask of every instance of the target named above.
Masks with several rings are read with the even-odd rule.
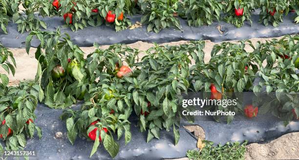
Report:
[[[40,126],[43,137],[38,136],[27,141],[25,150],[34,150],[37,157],[29,160],[112,160],[100,144],[97,152],[89,159],[93,142],[77,137],[74,145],[68,141],[66,136],[65,122],[60,120],[62,110],[51,109],[44,105],[38,105],[36,109],[37,119],[35,124]],[[147,132],[140,133],[137,124],[137,117],[132,117],[131,124],[132,140],[125,145],[124,136],[119,140],[120,149],[114,160],[161,160],[169,158],[185,157],[188,149],[196,147],[196,140],[189,135],[182,127],[180,128],[181,138],[177,145],[174,145],[172,129],[170,132],[161,131],[160,140],[153,139],[147,143]],[[56,139],[55,133],[62,132],[63,138]],[[114,137],[117,140],[116,137]]]

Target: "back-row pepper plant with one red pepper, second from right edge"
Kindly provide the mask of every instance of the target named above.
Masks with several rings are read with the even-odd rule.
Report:
[[[226,0],[226,16],[224,20],[236,27],[242,27],[244,21],[251,20],[251,12],[255,9],[255,0]]]

